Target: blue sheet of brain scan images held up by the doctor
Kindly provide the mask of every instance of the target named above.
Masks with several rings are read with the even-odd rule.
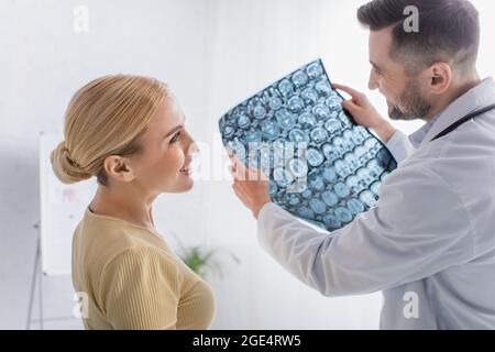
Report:
[[[328,231],[375,207],[383,180],[397,167],[342,101],[318,59],[219,121],[223,145],[270,178],[272,201]]]

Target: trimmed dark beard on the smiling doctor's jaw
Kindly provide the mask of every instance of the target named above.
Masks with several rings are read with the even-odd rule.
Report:
[[[425,120],[431,109],[431,105],[421,97],[418,82],[413,79],[407,82],[404,94],[398,100],[398,106],[400,108],[392,107],[389,113],[392,120]]]

